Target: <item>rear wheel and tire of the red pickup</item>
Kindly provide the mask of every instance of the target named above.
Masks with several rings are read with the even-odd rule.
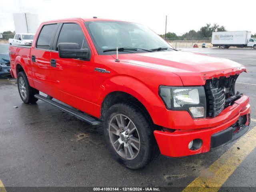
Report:
[[[17,82],[20,98],[22,101],[26,104],[36,103],[38,99],[35,98],[34,95],[39,94],[39,91],[30,87],[28,78],[24,71],[18,73]]]

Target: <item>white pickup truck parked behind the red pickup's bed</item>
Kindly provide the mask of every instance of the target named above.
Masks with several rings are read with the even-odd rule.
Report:
[[[16,33],[13,39],[9,39],[10,45],[32,45],[35,34]]]

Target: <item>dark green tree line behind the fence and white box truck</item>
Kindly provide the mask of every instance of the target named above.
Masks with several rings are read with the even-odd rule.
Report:
[[[220,26],[216,23],[211,25],[210,23],[207,23],[206,26],[202,26],[200,30],[195,31],[195,30],[190,30],[189,32],[184,33],[181,36],[178,36],[174,32],[168,32],[166,33],[166,38],[209,38],[212,37],[212,32],[217,32],[217,31],[227,31],[225,26]],[[164,38],[164,34],[160,35],[162,38]],[[256,33],[252,35],[252,37],[256,38]]]

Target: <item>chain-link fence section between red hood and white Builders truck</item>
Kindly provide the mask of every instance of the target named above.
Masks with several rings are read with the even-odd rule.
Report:
[[[166,38],[166,41],[170,43],[174,48],[192,48],[194,44],[197,44],[198,47],[202,47],[202,44],[205,43],[206,47],[212,47],[212,38],[205,37],[196,37],[196,38]]]

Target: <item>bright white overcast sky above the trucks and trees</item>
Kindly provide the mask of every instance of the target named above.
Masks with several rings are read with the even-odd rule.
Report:
[[[14,31],[13,13],[31,12],[40,22],[58,18],[109,18],[181,35],[206,23],[256,33],[255,0],[0,0],[0,32]]]

